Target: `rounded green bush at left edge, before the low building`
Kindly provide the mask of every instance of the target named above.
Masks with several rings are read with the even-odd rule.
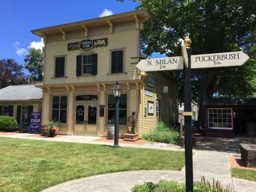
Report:
[[[16,119],[10,116],[0,116],[0,131],[14,132],[18,126]]]

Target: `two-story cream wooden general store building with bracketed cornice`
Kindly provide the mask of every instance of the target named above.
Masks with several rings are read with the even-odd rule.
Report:
[[[59,134],[105,136],[114,124],[112,88],[119,81],[120,135],[135,112],[136,132],[178,121],[177,81],[168,73],[142,77],[140,30],[147,9],[32,30],[44,38],[42,124],[58,121]]]

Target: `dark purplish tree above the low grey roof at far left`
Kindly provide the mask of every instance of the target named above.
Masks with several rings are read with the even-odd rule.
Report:
[[[14,59],[0,59],[0,89],[15,84],[26,84],[27,78],[23,66]]]

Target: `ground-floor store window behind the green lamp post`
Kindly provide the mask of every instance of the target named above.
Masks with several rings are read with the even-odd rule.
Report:
[[[127,95],[122,94],[119,98],[119,124],[126,124],[127,119]],[[108,124],[115,123],[115,98],[108,96]]]

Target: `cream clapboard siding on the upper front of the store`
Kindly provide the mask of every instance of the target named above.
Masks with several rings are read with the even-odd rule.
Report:
[[[106,34],[100,36],[92,36],[92,39],[108,38],[108,46],[93,48],[89,51],[75,50],[68,51],[68,43],[81,41],[84,38],[72,39],[66,41],[49,42],[46,44],[47,54],[45,59],[45,84],[61,84],[61,83],[79,83],[79,82],[102,82],[119,80],[132,80],[137,77],[136,64],[131,64],[138,53],[139,30],[130,30],[114,34]],[[111,50],[124,49],[124,68],[121,74],[110,74],[111,72]],[[76,76],[76,56],[79,54],[98,54],[98,74],[92,76]],[[54,77],[54,57],[59,55],[66,56],[66,76],[67,78]],[[127,73],[127,74],[126,74]],[[108,75],[109,74],[109,75]]]

